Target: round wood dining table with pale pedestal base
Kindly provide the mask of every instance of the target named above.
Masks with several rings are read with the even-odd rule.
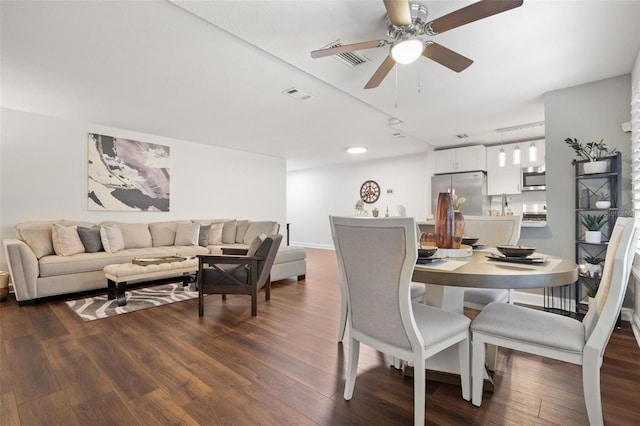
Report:
[[[417,264],[412,281],[428,285],[427,303],[453,312],[464,313],[465,287],[490,289],[533,289],[558,287],[578,280],[578,265],[570,260],[536,253],[543,263],[511,263],[491,260],[495,248],[474,250],[470,257],[449,258],[428,264]],[[495,366],[497,348],[487,351],[487,365]],[[457,355],[442,351],[427,360],[427,378],[445,383],[459,380]],[[490,368],[493,369],[493,368]],[[452,379],[453,377],[453,379]],[[485,390],[493,390],[485,376]]]

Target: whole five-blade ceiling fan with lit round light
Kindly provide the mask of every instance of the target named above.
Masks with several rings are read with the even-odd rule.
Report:
[[[514,9],[523,3],[523,0],[481,0],[433,21],[427,21],[427,8],[421,4],[409,3],[408,0],[383,1],[387,9],[387,35],[392,40],[363,41],[314,50],[311,52],[311,57],[322,58],[356,50],[391,46],[389,55],[364,86],[365,89],[378,87],[396,62],[409,64],[420,56],[436,61],[455,72],[460,72],[471,65],[473,61],[438,43],[424,40],[422,37],[441,34],[470,22]]]

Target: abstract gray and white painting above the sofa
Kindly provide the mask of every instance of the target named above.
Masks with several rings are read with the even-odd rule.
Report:
[[[169,147],[89,133],[89,210],[169,211]]]

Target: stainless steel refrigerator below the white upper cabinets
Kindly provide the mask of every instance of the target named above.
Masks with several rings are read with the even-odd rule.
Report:
[[[452,192],[466,201],[460,211],[472,216],[488,216],[490,200],[487,195],[487,173],[462,172],[431,177],[431,212],[435,214],[438,204],[438,194]]]

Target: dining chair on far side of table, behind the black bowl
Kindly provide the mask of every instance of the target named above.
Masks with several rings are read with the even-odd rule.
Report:
[[[464,233],[478,238],[479,244],[490,246],[515,245],[520,239],[522,216],[466,216]],[[513,303],[513,290],[497,288],[467,288],[464,306],[482,309],[491,302]]]

